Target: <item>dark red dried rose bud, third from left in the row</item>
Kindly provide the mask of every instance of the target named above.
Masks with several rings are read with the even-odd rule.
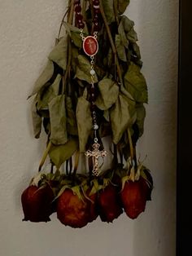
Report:
[[[111,223],[123,213],[115,186],[110,184],[99,192],[98,211],[101,220],[107,223]]]

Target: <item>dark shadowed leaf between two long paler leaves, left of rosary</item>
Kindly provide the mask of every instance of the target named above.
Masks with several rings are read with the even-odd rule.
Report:
[[[77,124],[76,124],[76,114],[72,108],[72,99],[66,97],[66,112],[67,112],[67,130],[69,135],[78,135]]]

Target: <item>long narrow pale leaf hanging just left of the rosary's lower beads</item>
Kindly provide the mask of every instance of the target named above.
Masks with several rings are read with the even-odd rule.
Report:
[[[85,152],[86,143],[92,131],[92,117],[89,101],[82,96],[76,106],[76,120],[79,134],[80,152]]]

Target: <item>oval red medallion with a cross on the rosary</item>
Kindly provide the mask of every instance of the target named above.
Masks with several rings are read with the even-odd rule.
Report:
[[[83,41],[83,50],[86,55],[94,56],[98,52],[98,41],[96,38],[89,36]]]

